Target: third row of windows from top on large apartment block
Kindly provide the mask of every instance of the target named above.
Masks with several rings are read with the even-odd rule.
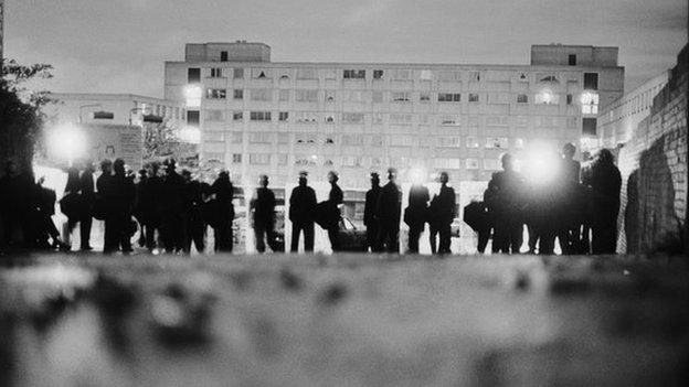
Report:
[[[226,120],[225,110],[220,109],[206,109],[205,121],[208,122],[223,122]],[[243,121],[246,117],[245,111],[234,110],[232,114],[233,121]],[[325,123],[342,122],[346,125],[363,125],[365,122],[367,114],[363,112],[318,112],[318,111],[277,111],[274,115],[269,110],[251,110],[248,111],[248,119],[251,121],[272,121],[276,116],[278,122],[296,122],[296,123],[317,123],[322,120]],[[368,114],[372,125],[383,125],[384,118],[388,118],[389,125],[441,125],[441,126],[460,126],[462,116],[459,115],[412,115],[412,114],[382,114],[374,112]],[[510,119],[511,117],[511,119]],[[194,126],[199,125],[199,111],[189,110],[187,123]],[[566,127],[569,129],[575,129],[579,127],[577,117],[561,117],[561,116],[537,116],[531,120],[528,116],[488,116],[485,120],[479,117],[471,116],[467,118],[467,126],[479,127],[481,121],[485,121],[486,126],[495,127],[509,127],[513,123],[517,127],[528,127],[530,123],[534,127]]]

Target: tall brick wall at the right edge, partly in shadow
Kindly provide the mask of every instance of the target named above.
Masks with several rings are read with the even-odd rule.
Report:
[[[618,252],[672,249],[686,235],[688,56],[685,46],[650,115],[618,149]]]

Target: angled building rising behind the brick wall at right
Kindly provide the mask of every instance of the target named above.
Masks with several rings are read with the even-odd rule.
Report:
[[[654,97],[669,77],[670,71],[665,71],[602,109],[598,114],[597,137],[591,141],[591,150],[616,148],[632,139],[638,123],[650,115]]]

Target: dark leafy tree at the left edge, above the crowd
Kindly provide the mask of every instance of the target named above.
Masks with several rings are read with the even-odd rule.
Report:
[[[26,82],[51,78],[51,65],[2,63],[0,73],[0,162],[14,160],[24,173],[32,173],[32,160],[40,142],[44,115],[41,107],[49,104],[45,92],[31,92]],[[0,169],[0,170],[3,170]],[[3,173],[3,171],[0,171]]]

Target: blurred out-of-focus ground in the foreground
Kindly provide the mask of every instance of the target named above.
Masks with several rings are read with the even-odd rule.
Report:
[[[0,379],[15,386],[689,380],[681,258],[0,261]]]

